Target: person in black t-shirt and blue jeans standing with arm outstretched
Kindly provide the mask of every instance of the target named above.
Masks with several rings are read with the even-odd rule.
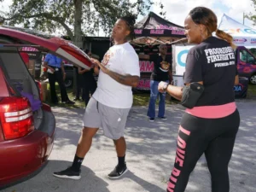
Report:
[[[158,118],[165,120],[166,93],[160,93],[158,84],[160,81],[172,83],[172,55],[167,55],[167,46],[160,44],[159,54],[139,55],[140,59],[154,61],[154,70],[150,76],[150,100],[148,104],[148,118],[150,121],[155,119],[155,102],[159,96]]]

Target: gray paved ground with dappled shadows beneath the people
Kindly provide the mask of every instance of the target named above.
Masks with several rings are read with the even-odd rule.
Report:
[[[256,102],[238,101],[241,127],[230,162],[230,192],[255,192],[256,187]],[[113,142],[99,131],[82,167],[79,181],[51,175],[73,161],[79,140],[84,110],[54,108],[57,122],[55,147],[49,164],[36,177],[4,189],[3,192],[164,192],[174,162],[177,127],[183,114],[179,105],[168,106],[168,120],[148,122],[147,108],[132,108],[125,132],[127,166],[130,170],[119,180],[106,175],[117,163]],[[210,192],[210,176],[204,157],[192,173],[188,192]]]

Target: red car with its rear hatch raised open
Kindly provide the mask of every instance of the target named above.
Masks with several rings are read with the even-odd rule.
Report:
[[[83,51],[61,38],[0,26],[0,189],[41,170],[55,137],[55,117],[40,101],[20,46],[59,55],[79,67],[91,65]]]

